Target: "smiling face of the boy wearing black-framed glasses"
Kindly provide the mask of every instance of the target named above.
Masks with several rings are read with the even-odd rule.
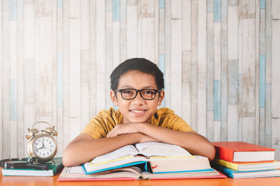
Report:
[[[155,83],[155,77],[138,70],[131,70],[123,74],[118,82],[118,89],[135,88],[141,90],[144,88],[158,89]],[[156,93],[155,99],[144,100],[140,93],[133,100],[124,100],[120,92],[111,91],[111,99],[115,106],[118,106],[123,114],[123,123],[151,123],[153,114],[162,104],[165,97],[165,91]]]

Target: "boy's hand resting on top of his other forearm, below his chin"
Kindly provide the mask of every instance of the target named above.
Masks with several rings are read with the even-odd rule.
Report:
[[[111,130],[106,137],[117,137],[122,134],[137,133],[139,131],[138,123],[118,124]]]

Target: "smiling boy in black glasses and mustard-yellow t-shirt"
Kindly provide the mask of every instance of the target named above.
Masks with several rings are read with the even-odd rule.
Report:
[[[119,110],[100,111],[62,154],[64,166],[78,166],[120,147],[161,141],[213,160],[214,146],[174,111],[158,109],[165,97],[164,79],[157,65],[128,59],[111,74],[111,100]]]

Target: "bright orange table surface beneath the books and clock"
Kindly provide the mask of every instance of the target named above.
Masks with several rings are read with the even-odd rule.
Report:
[[[26,177],[26,176],[2,176],[0,173],[0,185],[11,186],[11,185],[114,185],[114,186],[185,186],[185,185],[279,185],[280,186],[280,177],[276,178],[246,178],[246,179],[232,179],[232,178],[216,178],[216,179],[186,179],[186,180],[137,180],[137,181],[80,181],[80,182],[58,182],[59,173],[52,177]]]

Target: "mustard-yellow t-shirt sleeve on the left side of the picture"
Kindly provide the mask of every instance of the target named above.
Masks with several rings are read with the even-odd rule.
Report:
[[[92,118],[90,123],[85,126],[85,129],[81,133],[90,134],[93,139],[104,138],[108,133],[106,131],[106,127],[104,127],[106,126],[104,123],[104,118],[102,118],[100,115],[97,115]]]

